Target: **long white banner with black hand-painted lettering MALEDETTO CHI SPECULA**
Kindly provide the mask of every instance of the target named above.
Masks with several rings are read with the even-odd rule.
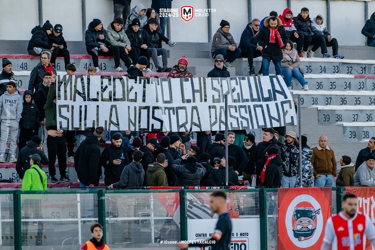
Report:
[[[291,94],[280,76],[138,78],[59,76],[57,126],[86,130],[207,131],[296,125]]]

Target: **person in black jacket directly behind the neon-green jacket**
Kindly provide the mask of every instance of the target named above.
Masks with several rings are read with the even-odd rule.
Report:
[[[33,138],[27,142],[27,146],[23,147],[18,153],[16,171],[18,176],[20,176],[20,179],[23,178],[23,174],[26,170],[30,168],[30,155],[39,154],[41,156],[42,161],[40,162],[39,167],[41,167],[42,164],[47,165],[49,163],[48,157],[43,153],[41,142],[42,139],[39,136],[34,135]]]

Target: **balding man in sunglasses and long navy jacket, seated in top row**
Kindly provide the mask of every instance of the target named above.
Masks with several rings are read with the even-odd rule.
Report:
[[[258,35],[259,32],[259,26],[259,19],[253,19],[242,32],[240,45],[238,45],[238,47],[241,49],[241,56],[248,58],[250,76],[256,75],[253,66],[253,59],[262,55],[263,48],[257,45],[257,41],[255,39],[255,36]]]

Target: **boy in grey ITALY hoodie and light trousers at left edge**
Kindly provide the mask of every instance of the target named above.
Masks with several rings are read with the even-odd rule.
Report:
[[[0,119],[1,119],[1,140],[0,140],[0,163],[5,162],[5,147],[10,143],[9,162],[17,162],[16,148],[18,126],[22,114],[22,98],[16,91],[16,83],[6,83],[6,92],[0,96]]]

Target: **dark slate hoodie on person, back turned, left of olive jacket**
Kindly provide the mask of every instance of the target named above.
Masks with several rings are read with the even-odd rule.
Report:
[[[120,181],[113,184],[115,188],[142,187],[145,179],[145,170],[140,162],[131,162],[124,167]]]

